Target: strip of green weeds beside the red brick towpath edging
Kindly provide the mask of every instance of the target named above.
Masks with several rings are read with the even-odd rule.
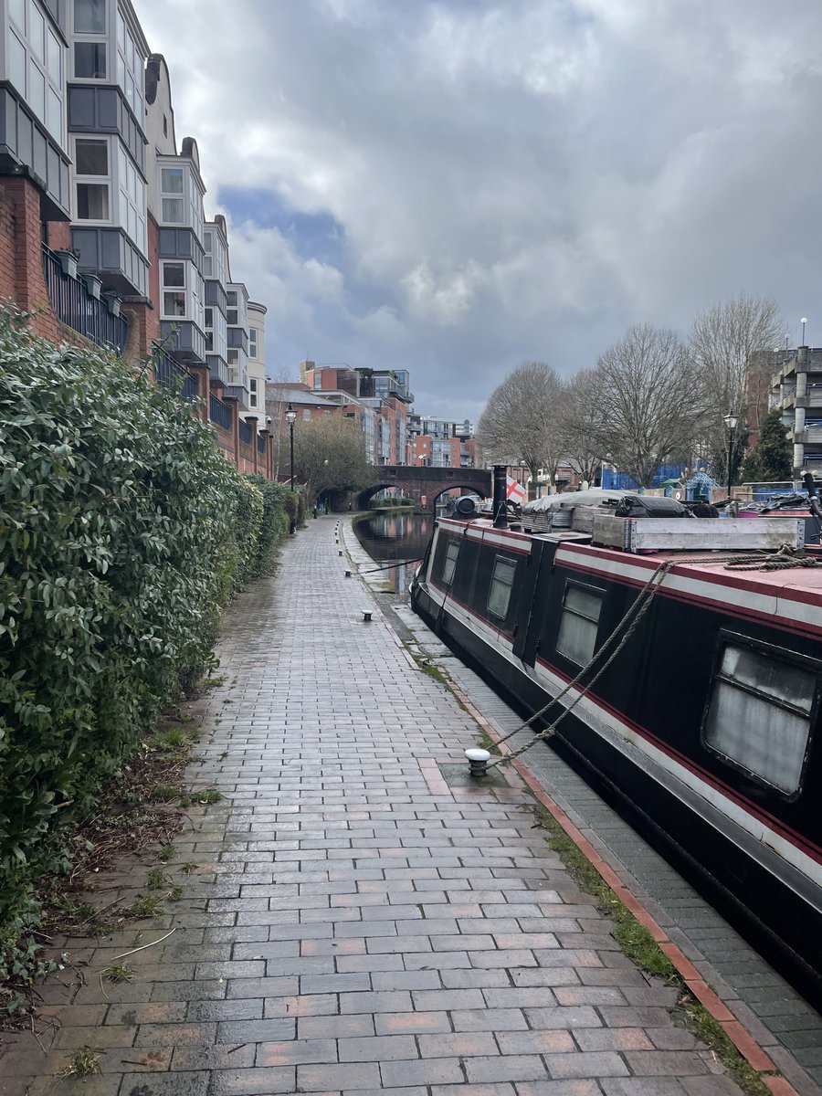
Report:
[[[562,826],[541,807],[534,808],[537,824],[548,831],[549,846],[559,854],[569,876],[594,899],[597,907],[614,921],[614,939],[633,962],[650,974],[663,978],[680,990],[680,1008],[687,1029],[701,1039],[731,1073],[737,1084],[749,1096],[772,1096],[756,1070],[740,1054],[726,1035],[722,1025],[707,1008],[695,1001],[685,981],[648,929],[640,925],[627,906],[620,902],[596,868],[571,841]],[[778,1076],[778,1073],[768,1074]]]

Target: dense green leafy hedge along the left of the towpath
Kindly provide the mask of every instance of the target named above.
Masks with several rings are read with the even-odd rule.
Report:
[[[239,476],[175,392],[24,321],[0,311],[0,948],[61,824],[213,664],[290,493]]]

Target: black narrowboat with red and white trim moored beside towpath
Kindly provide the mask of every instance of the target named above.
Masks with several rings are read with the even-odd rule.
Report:
[[[572,709],[551,745],[819,1007],[822,566],[760,569],[802,545],[803,522],[643,522],[630,501],[618,516],[604,492],[579,499],[541,532],[537,514],[515,526],[458,505],[411,604],[518,710],[548,704],[543,727]]]

